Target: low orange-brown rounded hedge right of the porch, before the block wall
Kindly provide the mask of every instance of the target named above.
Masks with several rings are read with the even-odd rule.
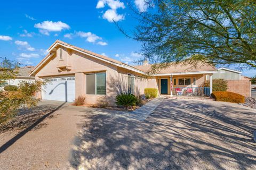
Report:
[[[211,96],[216,101],[227,101],[231,103],[244,103],[245,97],[230,91],[214,91]]]

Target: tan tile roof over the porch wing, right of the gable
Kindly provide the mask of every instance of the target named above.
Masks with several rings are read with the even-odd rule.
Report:
[[[143,72],[149,72],[151,70],[151,65],[137,65],[133,66],[136,69],[139,69]],[[171,64],[170,66],[160,69],[156,71],[156,74],[164,74],[164,73],[180,73],[180,72],[198,72],[198,71],[215,71],[216,68],[210,64],[206,64],[203,62],[198,62],[195,64]]]

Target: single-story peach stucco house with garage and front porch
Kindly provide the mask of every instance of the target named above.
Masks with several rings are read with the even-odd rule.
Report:
[[[120,92],[143,95],[145,88],[157,88],[159,95],[209,95],[217,72],[209,64],[177,64],[142,79],[149,69],[150,64],[131,66],[57,40],[30,76],[51,80],[38,95],[44,100],[73,101],[85,95],[88,104],[114,105]],[[206,75],[210,87],[199,87]]]

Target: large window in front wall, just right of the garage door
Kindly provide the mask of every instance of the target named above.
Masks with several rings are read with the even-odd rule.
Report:
[[[87,95],[106,95],[106,73],[86,75]]]

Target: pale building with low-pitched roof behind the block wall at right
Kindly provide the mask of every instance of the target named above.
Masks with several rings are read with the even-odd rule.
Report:
[[[232,69],[227,69],[224,67],[221,67],[218,69],[217,73],[214,73],[212,75],[212,79],[224,79],[224,80],[242,80],[241,76],[242,72],[232,70]],[[206,80],[209,80],[209,76],[206,76]]]

